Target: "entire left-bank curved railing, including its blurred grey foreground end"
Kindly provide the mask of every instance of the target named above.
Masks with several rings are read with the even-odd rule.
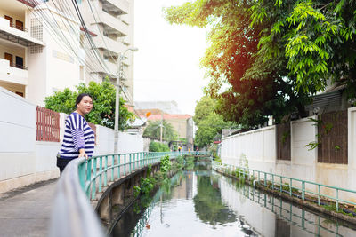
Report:
[[[159,162],[165,155],[205,155],[206,152],[131,153],[81,157],[69,162],[58,181],[51,217],[49,236],[105,236],[90,198],[101,192],[109,181],[128,175],[149,164]],[[85,197],[86,194],[86,197]]]

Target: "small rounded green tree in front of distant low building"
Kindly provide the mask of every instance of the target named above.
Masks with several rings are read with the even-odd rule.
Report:
[[[171,141],[171,140],[176,140],[178,138],[178,134],[176,130],[174,130],[174,127],[171,123],[167,122],[166,120],[163,120],[162,122],[163,128],[162,128],[162,139],[166,141]],[[161,121],[150,121],[149,125],[146,127],[146,129],[143,131],[143,136],[149,137],[149,138],[156,138],[160,139],[160,132],[161,132]]]

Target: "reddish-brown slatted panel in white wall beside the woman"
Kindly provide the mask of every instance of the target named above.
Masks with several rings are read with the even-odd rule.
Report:
[[[60,141],[60,113],[36,107],[36,140]]]

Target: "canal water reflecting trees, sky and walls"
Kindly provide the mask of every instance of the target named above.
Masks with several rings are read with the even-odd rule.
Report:
[[[356,236],[355,227],[214,171],[190,170],[135,203],[112,236]]]

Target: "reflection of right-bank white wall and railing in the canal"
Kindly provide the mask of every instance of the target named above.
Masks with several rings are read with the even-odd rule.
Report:
[[[344,222],[300,209],[279,197],[220,178],[223,201],[263,236],[356,236]],[[237,192],[238,191],[238,192]]]

